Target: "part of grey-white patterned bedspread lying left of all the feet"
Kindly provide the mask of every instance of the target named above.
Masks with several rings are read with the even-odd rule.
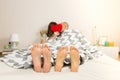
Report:
[[[29,68],[32,66],[31,47],[32,46],[26,49],[15,50],[0,58],[0,60],[13,68]]]

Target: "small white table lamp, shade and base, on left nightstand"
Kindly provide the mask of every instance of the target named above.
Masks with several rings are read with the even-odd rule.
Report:
[[[19,36],[17,33],[13,33],[10,37],[10,42],[12,44],[12,49],[17,49],[17,44],[19,43]]]

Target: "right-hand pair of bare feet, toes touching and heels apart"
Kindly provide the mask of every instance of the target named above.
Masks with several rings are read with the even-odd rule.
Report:
[[[64,60],[67,57],[68,54],[68,47],[61,47],[58,50],[57,53],[57,58],[56,58],[56,65],[55,65],[55,71],[61,72]],[[70,59],[71,59],[71,72],[77,72],[79,69],[79,64],[80,64],[80,55],[78,49],[75,47],[71,46],[70,47]]]

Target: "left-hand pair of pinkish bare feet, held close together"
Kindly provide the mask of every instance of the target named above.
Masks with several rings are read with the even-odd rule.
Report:
[[[43,55],[43,61],[41,61],[41,55]],[[34,65],[34,71],[42,72],[42,63],[43,63],[43,72],[47,73],[51,68],[51,50],[47,45],[34,44],[31,49],[31,56]]]

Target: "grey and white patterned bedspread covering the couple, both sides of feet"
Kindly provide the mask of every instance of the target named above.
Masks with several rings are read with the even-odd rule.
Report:
[[[98,51],[97,46],[93,46],[82,34],[74,30],[65,31],[60,38],[57,38],[52,42],[48,41],[47,44],[52,49],[52,58],[54,62],[57,50],[64,45],[74,45],[77,47],[80,51],[80,56],[83,62],[101,55],[101,52]],[[13,68],[29,68],[32,66],[32,57],[30,51],[31,47],[32,45],[26,49],[15,50],[11,52],[11,54],[0,58],[0,60]],[[66,59],[65,62],[69,63],[69,60]]]

